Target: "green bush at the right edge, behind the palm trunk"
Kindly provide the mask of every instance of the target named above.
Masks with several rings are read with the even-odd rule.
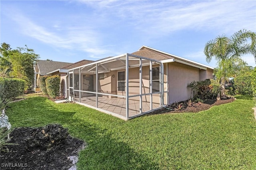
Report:
[[[234,87],[236,94],[241,95],[252,95],[252,76],[251,75],[240,75],[234,79]]]

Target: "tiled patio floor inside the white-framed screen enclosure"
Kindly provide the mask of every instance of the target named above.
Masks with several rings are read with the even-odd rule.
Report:
[[[78,98],[75,98],[75,101],[79,103]],[[79,104],[96,107],[96,97],[82,97]],[[158,103],[152,103],[152,110],[159,107]],[[98,97],[98,108],[126,118],[126,99]],[[150,111],[150,102],[142,102],[142,112],[147,111]],[[140,101],[129,99],[129,117],[138,114],[140,114]]]

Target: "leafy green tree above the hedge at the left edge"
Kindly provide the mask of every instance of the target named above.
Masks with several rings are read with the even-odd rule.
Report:
[[[11,49],[9,44],[2,43],[0,54],[1,77],[23,79],[26,81],[26,87],[32,85],[34,79],[33,63],[39,58],[33,49],[29,49],[27,45]]]

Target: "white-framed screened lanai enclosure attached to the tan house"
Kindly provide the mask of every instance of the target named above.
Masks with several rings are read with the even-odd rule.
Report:
[[[69,70],[69,98],[121,119],[168,104],[167,63],[132,54],[107,57]]]

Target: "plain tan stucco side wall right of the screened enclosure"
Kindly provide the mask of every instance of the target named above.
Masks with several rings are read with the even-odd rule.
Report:
[[[199,81],[200,71],[182,63],[168,63],[168,77],[170,104],[190,98],[191,90],[187,86],[193,80]]]

